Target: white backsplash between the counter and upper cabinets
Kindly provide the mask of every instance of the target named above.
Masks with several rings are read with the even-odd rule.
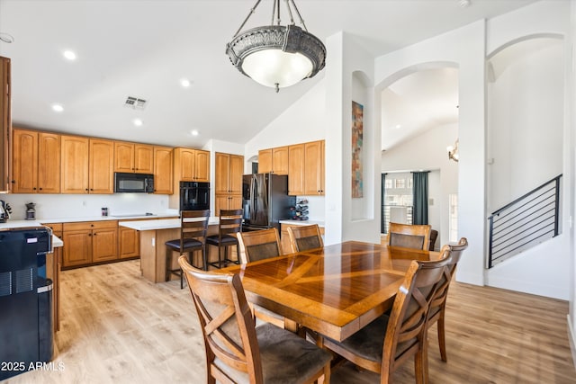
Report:
[[[1,194],[12,207],[10,219],[26,218],[26,203],[36,203],[36,219],[91,218],[102,215],[102,208],[108,208],[108,215],[131,213],[166,213],[168,196],[148,193],[113,194]],[[177,215],[178,212],[175,211]]]

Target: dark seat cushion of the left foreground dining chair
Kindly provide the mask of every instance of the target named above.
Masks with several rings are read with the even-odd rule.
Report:
[[[290,331],[264,324],[256,328],[262,373],[266,384],[309,382],[332,355]],[[214,363],[238,383],[249,383],[248,375],[235,371],[218,359]]]

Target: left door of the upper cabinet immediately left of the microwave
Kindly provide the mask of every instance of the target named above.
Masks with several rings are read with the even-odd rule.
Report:
[[[62,135],[60,145],[60,192],[88,193],[88,138]]]

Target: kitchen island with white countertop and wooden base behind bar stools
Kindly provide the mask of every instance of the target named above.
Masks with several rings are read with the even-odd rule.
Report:
[[[219,218],[210,218],[208,221],[208,235],[218,234]],[[146,221],[121,221],[121,227],[136,229],[140,237],[140,270],[142,276],[149,281],[166,281],[166,246],[168,240],[180,238],[180,219],[159,219]],[[218,248],[208,246],[206,248],[209,261],[218,260]],[[232,257],[236,254],[231,253]],[[172,268],[177,268],[177,254],[172,258]],[[195,265],[202,265],[200,253],[195,253],[193,258]]]

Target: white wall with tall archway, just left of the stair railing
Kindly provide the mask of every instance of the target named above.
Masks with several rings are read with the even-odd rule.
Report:
[[[485,254],[484,42],[484,22],[473,22],[455,31],[376,58],[374,78],[377,89],[382,90],[401,76],[421,68],[458,67],[458,230],[459,236],[468,237],[470,246],[466,257],[459,263],[456,279],[480,285],[484,282]],[[453,142],[444,144],[442,151],[446,151],[446,146]],[[447,228],[443,228],[443,232],[446,237]]]

